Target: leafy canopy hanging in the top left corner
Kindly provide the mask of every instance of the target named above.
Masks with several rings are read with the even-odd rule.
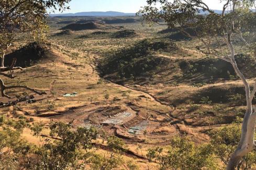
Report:
[[[47,29],[47,9],[65,9],[70,0],[6,0],[0,2],[0,54],[15,41],[17,32],[31,31],[34,38],[44,39]]]

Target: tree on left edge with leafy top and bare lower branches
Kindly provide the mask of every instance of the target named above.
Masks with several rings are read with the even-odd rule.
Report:
[[[14,78],[14,70],[21,67],[15,67],[16,59],[5,66],[5,55],[10,46],[17,41],[17,35],[20,33],[31,33],[37,41],[45,39],[47,26],[47,9],[54,8],[59,10],[66,9],[66,3],[71,0],[3,0],[0,1],[0,75]],[[9,71],[9,74],[6,72]],[[27,86],[5,86],[0,77],[0,88],[2,96],[10,98],[5,94],[6,89],[23,88],[33,91],[37,94],[44,94]]]

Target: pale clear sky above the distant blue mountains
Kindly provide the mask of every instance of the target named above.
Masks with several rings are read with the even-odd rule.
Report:
[[[211,9],[221,9],[219,0],[204,0]],[[146,0],[72,0],[69,3],[70,10],[64,13],[79,13],[87,11],[118,11],[123,13],[137,13],[147,5]],[[58,12],[56,12],[58,14]]]

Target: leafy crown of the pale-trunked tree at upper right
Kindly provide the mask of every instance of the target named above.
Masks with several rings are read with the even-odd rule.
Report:
[[[138,15],[148,23],[165,21],[170,29],[180,30],[186,37],[199,39],[206,47],[206,53],[215,56],[226,54],[216,52],[217,48],[212,44],[222,43],[218,37],[226,33],[255,35],[255,13],[249,8],[255,5],[255,1],[225,1],[222,14],[209,9],[207,3],[201,0],[174,1],[149,0],[148,6],[141,9]],[[161,4],[160,8],[159,5]],[[229,5],[233,4],[230,9]],[[231,6],[231,5],[230,5]],[[230,13],[227,13],[230,10]],[[198,15],[207,14],[207,15]],[[232,24],[225,24],[230,23]],[[189,31],[187,28],[190,28]],[[213,39],[214,38],[214,39]],[[216,38],[216,39],[215,39]]]

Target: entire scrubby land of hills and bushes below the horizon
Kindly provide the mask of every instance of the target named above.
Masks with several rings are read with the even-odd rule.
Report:
[[[4,67],[17,58],[15,66],[24,69],[0,71],[0,76],[6,87],[18,84],[32,91],[5,89],[12,99],[0,97],[0,169],[226,168],[239,146],[247,98],[230,62],[215,56],[216,51],[229,54],[223,30],[214,33],[219,14],[207,9],[193,15],[197,10],[191,8],[185,6],[188,10],[175,18],[168,14],[167,21],[153,20],[161,25],[150,27],[138,22],[148,17],[143,14],[50,17],[49,32],[43,27],[35,34],[37,42],[17,30]],[[183,17],[186,25],[170,25],[183,12],[199,26]],[[252,12],[247,10],[247,19]],[[233,58],[250,84],[256,76],[251,30],[242,30],[250,47],[239,32],[231,37]],[[34,89],[47,94],[35,95]],[[255,167],[252,151],[236,169]]]

